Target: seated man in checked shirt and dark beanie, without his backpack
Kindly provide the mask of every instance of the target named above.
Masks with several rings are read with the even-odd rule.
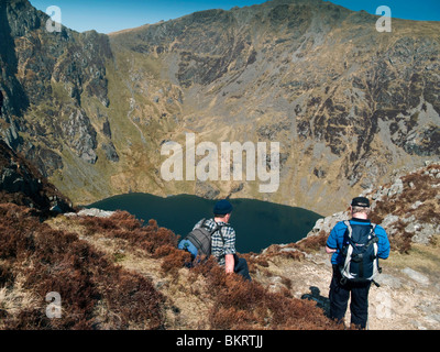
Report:
[[[248,262],[237,255],[235,231],[229,224],[231,212],[232,205],[226,199],[219,200],[213,207],[213,219],[205,221],[205,227],[210,231],[216,229],[217,226],[221,227],[219,231],[212,233],[211,254],[216,257],[219,265],[224,266],[227,273],[238,273],[251,280]],[[202,223],[204,220],[200,220],[194,228],[200,228]]]

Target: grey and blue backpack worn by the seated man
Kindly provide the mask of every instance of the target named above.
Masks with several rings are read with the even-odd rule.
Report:
[[[207,220],[204,219],[201,226],[189,232],[177,246],[179,250],[188,251],[193,260],[197,256],[208,257],[211,255],[211,239],[216,231],[220,231],[221,240],[224,243],[223,234],[221,233],[221,229],[224,226],[217,224],[213,230],[210,230],[206,222]]]

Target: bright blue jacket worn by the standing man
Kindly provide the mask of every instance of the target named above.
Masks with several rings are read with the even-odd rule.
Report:
[[[362,219],[351,219],[351,224],[362,224],[362,226],[370,226],[370,220],[362,220]],[[327,246],[332,250],[337,250],[331,256],[331,264],[339,264],[340,263],[340,249],[342,248],[344,233],[346,230],[346,226],[343,221],[338,222],[334,228],[331,230],[330,235],[327,240]],[[389,241],[388,237],[384,230],[384,228],[376,226],[374,233],[378,238],[377,243],[377,256],[382,260],[386,260],[389,255]]]

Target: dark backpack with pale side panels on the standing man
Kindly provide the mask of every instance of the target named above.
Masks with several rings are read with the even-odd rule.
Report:
[[[351,224],[344,221],[346,231],[341,250],[343,261],[340,264],[342,284],[374,282],[374,277],[381,273],[378,266],[378,238],[374,233],[376,224]]]

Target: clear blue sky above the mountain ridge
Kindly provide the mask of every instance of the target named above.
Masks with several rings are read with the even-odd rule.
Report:
[[[62,23],[78,32],[110,33],[170,20],[208,9],[229,10],[263,3],[265,0],[30,0],[38,10],[51,6],[62,10]],[[418,21],[440,21],[440,0],[331,0],[344,8],[370,13],[388,6],[392,16]]]

